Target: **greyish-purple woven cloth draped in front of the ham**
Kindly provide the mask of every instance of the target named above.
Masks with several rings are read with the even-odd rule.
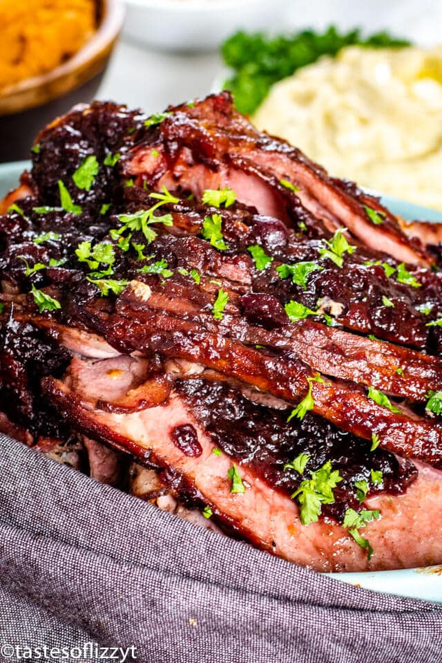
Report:
[[[0,645],[135,646],[126,660],[146,663],[442,661],[442,606],[298,568],[5,436],[0,468]]]

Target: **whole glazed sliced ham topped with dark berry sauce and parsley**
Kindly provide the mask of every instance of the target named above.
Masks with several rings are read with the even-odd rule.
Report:
[[[3,201],[1,428],[318,570],[441,563],[438,232],[228,93],[146,119],[73,109]]]

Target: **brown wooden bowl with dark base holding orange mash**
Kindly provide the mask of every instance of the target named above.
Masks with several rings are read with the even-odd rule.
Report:
[[[90,102],[122,28],[121,0],[101,0],[95,35],[52,71],[4,88],[0,95],[0,162],[29,157],[32,142],[48,122],[79,102]]]

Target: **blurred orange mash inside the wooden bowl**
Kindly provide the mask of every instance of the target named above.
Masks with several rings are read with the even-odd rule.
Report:
[[[66,61],[95,22],[95,0],[0,0],[0,90]]]

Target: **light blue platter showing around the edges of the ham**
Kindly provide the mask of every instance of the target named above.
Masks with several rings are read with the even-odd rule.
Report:
[[[0,165],[0,198],[17,186],[21,172],[28,167],[28,161]],[[382,196],[382,201],[394,214],[401,214],[406,219],[442,223],[442,212],[436,212],[434,209],[405,203],[404,200],[390,196]],[[442,603],[442,565],[373,573],[330,573],[329,576],[378,592]]]

